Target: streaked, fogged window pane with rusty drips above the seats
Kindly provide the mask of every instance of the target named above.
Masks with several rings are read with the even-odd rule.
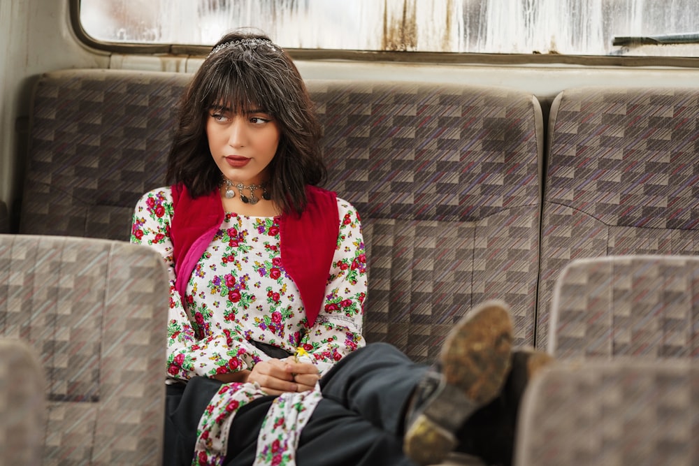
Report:
[[[211,45],[254,27],[287,48],[668,54],[612,42],[692,35],[699,8],[696,0],[82,0],[80,20],[106,42]],[[696,45],[679,50],[699,56]]]

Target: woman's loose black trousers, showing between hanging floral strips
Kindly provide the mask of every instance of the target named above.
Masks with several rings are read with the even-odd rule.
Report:
[[[403,418],[427,370],[389,344],[371,344],[339,361],[321,380],[323,400],[301,433],[298,466],[412,465],[403,456]],[[195,377],[168,396],[164,465],[189,465],[199,418],[220,382]],[[252,465],[257,436],[274,397],[238,410],[226,465]]]

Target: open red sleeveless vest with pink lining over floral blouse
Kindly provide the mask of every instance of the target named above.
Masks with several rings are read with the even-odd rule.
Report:
[[[185,289],[196,263],[206,251],[224,219],[218,190],[192,198],[182,184],[172,187],[173,218],[170,238],[175,260],[175,289]],[[312,327],[325,299],[325,286],[340,233],[336,194],[306,187],[308,205],[301,216],[278,217],[282,267],[301,293],[308,327]],[[186,305],[185,303],[182,303]]]

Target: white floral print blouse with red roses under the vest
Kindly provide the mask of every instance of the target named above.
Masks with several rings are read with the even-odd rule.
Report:
[[[303,347],[321,374],[363,346],[367,284],[361,225],[347,201],[338,198],[338,211],[340,233],[323,309],[314,326],[307,328],[298,288],[284,272],[277,217],[226,212],[182,299],[174,287],[171,189],[154,189],[140,198],[131,242],[157,249],[170,275],[168,376],[187,380],[252,369],[270,357],[251,340],[292,354]]]

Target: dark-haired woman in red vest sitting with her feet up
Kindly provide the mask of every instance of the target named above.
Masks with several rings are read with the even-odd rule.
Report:
[[[512,385],[505,305],[454,328],[441,372],[364,347],[359,216],[317,187],[320,132],[259,34],[224,36],[180,102],[171,186],[140,199],[131,235],[171,277],[165,465],[412,465],[489,443],[466,421],[492,422]]]

